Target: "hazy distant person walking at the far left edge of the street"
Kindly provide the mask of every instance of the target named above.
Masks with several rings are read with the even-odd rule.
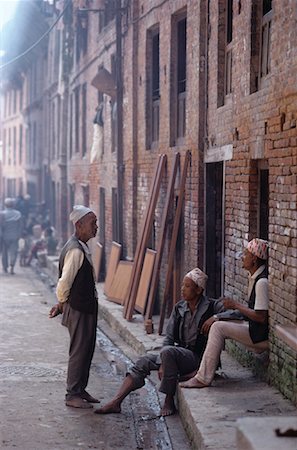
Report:
[[[22,214],[14,209],[14,199],[6,198],[2,220],[2,267],[3,272],[8,269],[14,274],[14,266],[18,255],[18,242],[22,232]]]

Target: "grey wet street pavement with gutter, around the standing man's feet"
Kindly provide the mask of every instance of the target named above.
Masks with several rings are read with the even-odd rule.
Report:
[[[48,286],[31,268],[16,272],[0,274],[0,448],[188,450],[178,416],[159,417],[154,382],[132,393],[121,414],[65,406],[68,331],[60,318],[48,318],[55,302]],[[125,344],[118,349],[117,335],[99,325],[88,391],[103,404],[137,355],[128,347],[124,354]]]

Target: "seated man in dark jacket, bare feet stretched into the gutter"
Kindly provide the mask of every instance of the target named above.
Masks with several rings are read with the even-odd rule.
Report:
[[[121,412],[124,398],[145,384],[151,370],[158,370],[161,381],[159,390],[166,395],[161,415],[175,413],[177,382],[180,377],[197,369],[206,346],[207,337],[201,333],[201,327],[214,313],[223,310],[221,302],[203,296],[206,281],[207,275],[198,268],[186,274],[181,288],[183,300],[175,305],[171,314],[160,355],[147,354],[138,359],[115,397],[96,409],[96,414]]]

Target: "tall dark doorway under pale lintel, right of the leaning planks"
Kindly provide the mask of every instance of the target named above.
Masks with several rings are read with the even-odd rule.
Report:
[[[222,295],[224,163],[206,164],[206,248],[207,295]]]

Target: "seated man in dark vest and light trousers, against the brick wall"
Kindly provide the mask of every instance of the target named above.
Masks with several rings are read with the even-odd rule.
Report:
[[[202,332],[209,335],[199,370],[193,378],[180,383],[181,387],[204,388],[211,384],[225,339],[234,339],[256,353],[268,349],[267,252],[268,243],[262,239],[248,243],[243,256],[243,267],[250,273],[248,306],[228,298],[223,300],[226,309],[238,310],[246,321],[220,321],[218,314],[204,323]]]

